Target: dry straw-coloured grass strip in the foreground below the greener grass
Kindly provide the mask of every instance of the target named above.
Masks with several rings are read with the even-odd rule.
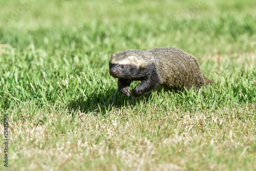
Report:
[[[256,168],[254,104],[180,114],[113,108],[108,117],[62,111],[37,126],[11,121],[11,170]]]

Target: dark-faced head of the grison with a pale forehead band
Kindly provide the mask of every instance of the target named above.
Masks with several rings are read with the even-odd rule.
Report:
[[[136,78],[144,64],[141,57],[131,50],[112,54],[109,62],[110,75],[114,78]]]

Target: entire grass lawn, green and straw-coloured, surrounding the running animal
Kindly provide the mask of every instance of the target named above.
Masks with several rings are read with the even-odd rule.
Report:
[[[255,5],[0,0],[0,169],[255,170]],[[167,46],[215,83],[117,91],[112,53]]]

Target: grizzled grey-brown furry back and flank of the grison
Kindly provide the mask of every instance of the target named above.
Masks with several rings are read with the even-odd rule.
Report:
[[[204,75],[197,59],[176,48],[155,48],[144,51],[153,57],[162,78],[162,83],[169,87],[190,89],[205,84]]]

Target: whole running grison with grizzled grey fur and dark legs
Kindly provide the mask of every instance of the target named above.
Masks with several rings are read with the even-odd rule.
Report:
[[[118,78],[118,90],[127,96],[133,80],[141,81],[133,90],[134,97],[151,92],[161,84],[198,89],[213,82],[204,77],[193,55],[177,48],[121,51],[111,55],[109,67],[110,74]]]

